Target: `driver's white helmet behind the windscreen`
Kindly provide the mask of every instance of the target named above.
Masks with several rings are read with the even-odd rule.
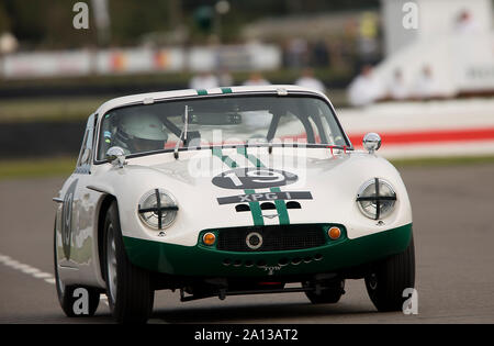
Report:
[[[115,134],[115,144],[131,154],[161,150],[167,141],[166,127],[154,114],[125,116]]]

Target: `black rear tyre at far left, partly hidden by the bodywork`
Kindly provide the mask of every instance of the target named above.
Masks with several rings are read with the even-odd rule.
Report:
[[[67,317],[89,317],[93,316],[100,304],[100,291],[96,288],[83,287],[83,286],[66,286],[60,280],[58,276],[58,255],[57,255],[57,233],[56,233],[56,221],[54,227],[54,267],[55,267],[55,286],[57,290],[58,302],[60,303],[61,310],[67,315]],[[80,306],[79,299],[82,298],[81,292],[78,289],[85,289],[88,297],[87,313],[85,311],[79,311]],[[82,292],[85,294],[86,292]],[[74,297],[76,295],[76,297]],[[76,306],[77,305],[77,306]],[[76,309],[79,308],[79,309]],[[77,310],[77,311],[76,311]],[[85,309],[82,309],[85,310]]]

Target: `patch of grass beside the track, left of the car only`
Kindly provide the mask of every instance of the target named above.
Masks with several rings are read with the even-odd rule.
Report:
[[[74,157],[0,160],[0,180],[69,176],[76,161]]]

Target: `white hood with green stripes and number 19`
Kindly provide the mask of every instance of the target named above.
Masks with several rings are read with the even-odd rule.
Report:
[[[400,174],[385,159],[367,153],[333,155],[327,148],[215,148],[131,159],[117,171],[134,186],[132,204],[161,188],[178,201],[168,233],[176,243],[194,245],[206,228],[277,224],[337,223],[348,237],[412,222]],[[379,225],[359,210],[356,198],[367,181],[386,180],[397,196],[395,212]],[[132,194],[132,193],[131,193]],[[128,196],[128,191],[126,193]],[[125,198],[128,200],[128,197]],[[131,207],[132,209],[133,207]],[[183,233],[193,232],[188,241]],[[173,242],[173,237],[168,239]]]

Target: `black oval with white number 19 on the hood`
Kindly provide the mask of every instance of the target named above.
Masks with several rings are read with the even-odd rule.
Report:
[[[237,168],[222,172],[212,182],[223,189],[267,189],[293,183],[299,177],[292,172],[270,168]]]

